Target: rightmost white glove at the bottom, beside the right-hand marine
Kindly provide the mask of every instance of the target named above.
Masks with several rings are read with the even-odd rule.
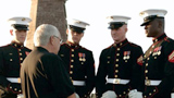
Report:
[[[128,98],[142,98],[142,93],[137,91],[137,89],[133,89],[128,93]]]

